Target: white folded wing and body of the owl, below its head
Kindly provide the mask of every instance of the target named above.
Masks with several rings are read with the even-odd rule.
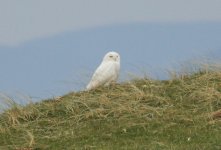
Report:
[[[115,63],[102,63],[92,76],[91,81],[87,86],[87,90],[104,85],[116,75],[118,75],[118,73],[116,73]]]

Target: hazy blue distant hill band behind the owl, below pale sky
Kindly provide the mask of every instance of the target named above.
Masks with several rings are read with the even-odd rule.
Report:
[[[0,48],[0,92],[44,99],[84,88],[108,51],[127,73],[166,78],[189,60],[221,56],[221,24],[124,24],[67,32]]]

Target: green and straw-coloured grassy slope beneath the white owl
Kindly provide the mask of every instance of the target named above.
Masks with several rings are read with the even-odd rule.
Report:
[[[221,72],[137,79],[0,115],[0,149],[221,149]]]

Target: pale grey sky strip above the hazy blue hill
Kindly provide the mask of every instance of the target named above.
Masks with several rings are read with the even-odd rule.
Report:
[[[122,23],[221,21],[220,7],[220,0],[1,1],[0,45]]]

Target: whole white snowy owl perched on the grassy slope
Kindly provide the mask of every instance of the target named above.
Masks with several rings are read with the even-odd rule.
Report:
[[[100,66],[94,72],[86,90],[94,89],[98,86],[108,86],[117,82],[120,71],[120,55],[116,52],[108,52]]]

